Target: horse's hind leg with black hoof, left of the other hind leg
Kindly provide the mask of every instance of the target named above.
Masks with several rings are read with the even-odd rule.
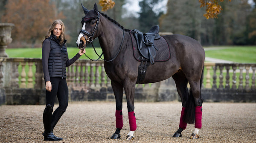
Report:
[[[177,92],[180,95],[181,103],[182,103],[182,110],[180,115],[180,124],[179,129],[174,133],[172,137],[181,137],[181,132],[186,129],[187,123],[184,121],[184,115],[185,115],[185,109],[186,109],[186,102],[188,101],[188,80],[186,79],[186,76],[182,71],[175,73],[175,75],[172,76],[172,78],[175,81]]]

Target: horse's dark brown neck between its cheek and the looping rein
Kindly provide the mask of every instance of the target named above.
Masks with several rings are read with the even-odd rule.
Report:
[[[121,45],[123,30],[107,19],[102,20],[101,28],[99,43],[104,54],[104,59],[109,60],[115,56]]]

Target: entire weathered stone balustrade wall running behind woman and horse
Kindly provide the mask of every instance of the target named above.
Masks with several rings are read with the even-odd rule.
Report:
[[[0,61],[0,104],[45,103],[41,59],[0,58]],[[205,101],[256,101],[256,64],[205,63],[204,70],[202,95]],[[103,61],[79,59],[67,67],[67,75],[69,101],[115,101]],[[172,78],[136,85],[135,101],[177,100]]]

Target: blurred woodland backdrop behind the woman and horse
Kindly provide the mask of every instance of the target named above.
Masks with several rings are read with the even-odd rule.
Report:
[[[220,0],[218,18],[204,17],[198,0],[113,0],[109,17],[127,29],[147,32],[160,25],[160,32],[190,36],[203,46],[256,45],[256,0]],[[14,23],[8,48],[39,48],[52,22],[61,19],[66,27],[68,47],[76,47],[84,12],[99,0],[1,0],[0,22]],[[96,42],[95,46],[99,47]]]

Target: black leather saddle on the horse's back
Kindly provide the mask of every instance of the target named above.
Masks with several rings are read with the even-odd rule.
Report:
[[[137,46],[140,54],[150,61],[151,64],[154,64],[154,58],[157,55],[157,47],[154,46],[154,40],[160,39],[161,36],[158,34],[159,26],[153,26],[148,33],[140,32],[137,29],[132,30],[134,37],[137,41]]]

